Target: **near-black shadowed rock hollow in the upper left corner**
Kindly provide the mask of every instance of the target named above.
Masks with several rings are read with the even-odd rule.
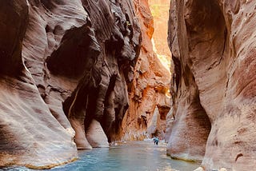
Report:
[[[19,78],[24,75],[25,70],[22,62],[22,41],[29,21],[29,6],[26,2],[2,2],[0,15],[0,75]]]

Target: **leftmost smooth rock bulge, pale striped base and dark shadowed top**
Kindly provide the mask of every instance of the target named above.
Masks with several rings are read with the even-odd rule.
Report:
[[[66,127],[62,127],[53,117],[25,66],[24,45],[33,22],[28,19],[29,5],[28,1],[6,1],[0,9],[4,13],[0,48],[6,54],[1,54],[0,71],[0,165],[40,169],[72,161],[78,154],[69,122],[66,120]]]

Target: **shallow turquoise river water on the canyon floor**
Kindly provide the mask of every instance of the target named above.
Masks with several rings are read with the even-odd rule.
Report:
[[[79,151],[78,161],[61,165],[52,171],[191,171],[198,164],[172,160],[166,156],[166,144],[152,141],[130,141],[110,148]],[[30,170],[9,168],[8,170]]]

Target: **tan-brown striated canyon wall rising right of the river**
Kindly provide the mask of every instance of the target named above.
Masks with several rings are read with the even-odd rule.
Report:
[[[255,21],[254,1],[171,2],[170,156],[206,170],[255,167]]]

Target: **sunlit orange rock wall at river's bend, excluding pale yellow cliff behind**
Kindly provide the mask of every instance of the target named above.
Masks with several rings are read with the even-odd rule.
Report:
[[[122,121],[122,139],[164,138],[166,114],[170,110],[170,73],[153,50],[154,18],[148,0],[134,0],[134,9],[142,30],[142,47],[133,82],[128,86],[130,100]]]

